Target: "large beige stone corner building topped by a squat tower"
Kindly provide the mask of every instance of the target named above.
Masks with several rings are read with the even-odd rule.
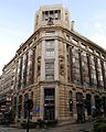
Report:
[[[106,51],[74,30],[74,21],[62,6],[40,8],[33,34],[3,68],[0,81],[7,78],[8,67],[14,69],[9,77],[15,121],[26,120],[28,98],[33,100],[32,121],[73,121],[81,113],[87,119],[92,106],[106,109]]]

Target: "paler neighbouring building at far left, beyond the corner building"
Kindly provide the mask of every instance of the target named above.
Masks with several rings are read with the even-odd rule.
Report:
[[[15,57],[14,57],[15,58]],[[8,113],[12,110],[13,88],[15,79],[15,63],[12,58],[2,69],[0,77],[0,116],[1,120],[7,119]]]

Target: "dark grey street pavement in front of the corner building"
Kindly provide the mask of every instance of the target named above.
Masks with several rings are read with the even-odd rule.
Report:
[[[26,132],[26,130],[0,125],[0,132]],[[47,129],[30,129],[29,132],[93,132],[93,122],[82,124],[65,124],[62,127]]]

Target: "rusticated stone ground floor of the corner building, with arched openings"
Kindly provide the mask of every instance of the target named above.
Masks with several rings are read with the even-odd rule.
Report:
[[[15,122],[26,120],[25,100],[33,100],[30,120],[85,121],[92,117],[92,107],[105,113],[106,95],[102,90],[60,82],[42,82],[14,94]]]

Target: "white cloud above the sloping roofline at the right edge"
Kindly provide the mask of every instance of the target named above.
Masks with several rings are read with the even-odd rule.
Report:
[[[106,12],[106,11],[105,11]],[[89,40],[95,42],[97,45],[106,50],[106,13],[99,12],[93,14],[84,23],[84,28],[87,31],[84,32]]]

